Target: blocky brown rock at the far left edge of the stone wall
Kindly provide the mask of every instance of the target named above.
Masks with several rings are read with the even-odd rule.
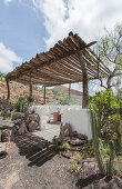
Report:
[[[8,142],[11,140],[11,130],[4,129],[1,131],[1,141],[2,142]]]

